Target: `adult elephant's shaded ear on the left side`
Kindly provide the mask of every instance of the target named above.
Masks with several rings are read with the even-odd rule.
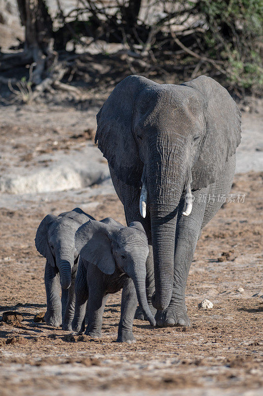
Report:
[[[146,87],[155,84],[142,76],[128,76],[114,88],[97,114],[95,143],[118,179],[140,187],[143,163],[132,135],[134,101]]]

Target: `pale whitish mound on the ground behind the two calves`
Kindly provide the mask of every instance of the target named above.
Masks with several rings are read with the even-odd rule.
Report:
[[[55,144],[56,142],[53,142]],[[52,154],[41,154],[41,162],[29,167],[8,167],[0,175],[0,193],[34,194],[70,189],[81,189],[100,184],[110,177],[102,153],[92,143],[85,148],[69,153],[62,150]]]

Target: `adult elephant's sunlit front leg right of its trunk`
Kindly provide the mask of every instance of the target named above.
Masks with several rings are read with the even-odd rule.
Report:
[[[199,190],[198,194],[200,191],[203,192],[203,190]],[[203,194],[205,193],[206,191],[203,192]],[[173,294],[168,307],[164,311],[157,311],[155,315],[157,326],[189,326],[190,324],[185,291],[206,206],[205,202],[198,202],[198,194],[193,193],[195,200],[189,216],[183,215],[184,205],[182,203],[179,205],[175,238]]]

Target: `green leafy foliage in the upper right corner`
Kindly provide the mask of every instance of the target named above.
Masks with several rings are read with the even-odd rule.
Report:
[[[262,0],[199,0],[210,56],[224,61],[231,86],[256,91],[263,86],[260,56],[263,37]]]

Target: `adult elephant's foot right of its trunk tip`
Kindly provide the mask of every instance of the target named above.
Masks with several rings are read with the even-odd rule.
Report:
[[[156,325],[164,327],[189,326],[190,320],[185,307],[168,307],[163,311],[157,311],[155,315]]]

